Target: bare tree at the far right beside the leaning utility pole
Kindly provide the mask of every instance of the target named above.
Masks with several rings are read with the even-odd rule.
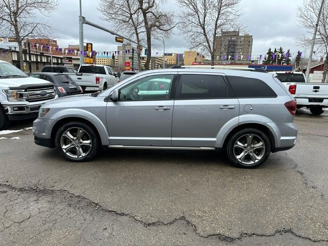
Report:
[[[299,45],[308,46],[312,43],[312,35],[315,30],[316,22],[318,19],[318,13],[320,9],[321,1],[316,0],[304,0],[303,6],[298,7],[297,18],[300,26],[308,31],[308,36],[302,36],[298,40]],[[328,71],[328,1],[325,0],[322,12],[320,15],[315,45],[317,53],[323,52],[325,54],[324,68],[322,83],[325,82]]]

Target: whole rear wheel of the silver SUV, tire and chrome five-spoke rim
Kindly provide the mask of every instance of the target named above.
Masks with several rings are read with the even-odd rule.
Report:
[[[247,128],[230,138],[227,156],[238,168],[256,168],[268,159],[270,150],[270,140],[264,132]]]

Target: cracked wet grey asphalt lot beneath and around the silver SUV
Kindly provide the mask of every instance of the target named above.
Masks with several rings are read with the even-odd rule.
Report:
[[[327,123],[298,110],[296,147],[254,170],[192,151],[71,163],[1,135],[0,245],[328,245]]]

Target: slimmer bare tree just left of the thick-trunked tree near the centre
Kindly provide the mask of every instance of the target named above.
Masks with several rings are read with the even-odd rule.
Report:
[[[138,0],[99,0],[98,10],[102,13],[101,18],[109,22],[114,31],[124,30],[131,39],[135,37],[137,46],[141,47],[145,40],[145,29]],[[139,49],[136,52],[141,70]]]

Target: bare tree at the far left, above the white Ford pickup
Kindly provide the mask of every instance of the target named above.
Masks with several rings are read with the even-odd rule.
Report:
[[[45,36],[51,28],[36,21],[35,14],[46,15],[57,6],[57,0],[0,0],[0,35],[15,37],[19,49],[19,64],[23,68],[23,42],[30,37]]]

